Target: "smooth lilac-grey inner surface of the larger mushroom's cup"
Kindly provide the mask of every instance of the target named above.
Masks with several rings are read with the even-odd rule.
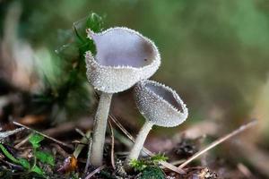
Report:
[[[154,60],[156,52],[151,42],[132,32],[109,31],[92,38],[97,49],[96,61],[101,65],[141,68]]]

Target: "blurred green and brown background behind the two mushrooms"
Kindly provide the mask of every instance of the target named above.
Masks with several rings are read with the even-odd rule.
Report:
[[[70,72],[74,72],[74,59],[82,59],[81,51],[67,46],[74,22],[83,21],[92,12],[99,15],[104,29],[126,26],[152,38],[162,59],[161,68],[152,79],[177,90],[187,103],[189,117],[185,124],[173,130],[158,128],[152,132],[153,136],[168,137],[189,128],[221,136],[256,119],[255,129],[240,135],[240,142],[251,144],[247,150],[252,152],[249,156],[257,154],[254,158],[268,159],[269,2],[266,0],[1,0],[1,106],[6,104],[6,95],[18,101],[20,91],[27,94],[24,102],[37,95],[43,102],[38,106],[34,101],[23,110],[22,105],[15,106],[13,110],[17,113],[13,115],[17,117],[43,114],[42,119],[56,124],[94,113],[96,99],[83,76],[83,65],[76,69],[81,72],[77,79],[82,82],[71,82],[73,86],[67,82],[70,86],[66,87]],[[66,88],[73,89],[66,92]],[[129,128],[134,127],[135,133],[143,124],[143,117],[137,114],[131,93],[128,90],[117,94],[112,111],[124,124],[130,124]],[[49,101],[48,97],[53,98],[53,105],[46,107],[44,101]],[[48,111],[49,115],[44,117]],[[223,148],[230,153],[235,149],[240,150]],[[256,159],[247,162],[256,168],[267,164]],[[267,166],[261,170],[268,176]]]

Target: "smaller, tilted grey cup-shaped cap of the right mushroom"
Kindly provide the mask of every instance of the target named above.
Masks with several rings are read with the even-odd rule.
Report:
[[[159,82],[138,82],[134,98],[140,113],[153,124],[174,127],[187,119],[187,107],[177,92]]]

